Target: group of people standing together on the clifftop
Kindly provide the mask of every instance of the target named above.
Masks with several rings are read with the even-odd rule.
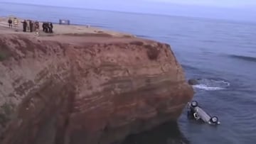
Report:
[[[13,20],[9,18],[8,20],[9,28],[13,28]],[[23,23],[23,32],[36,32],[36,35],[39,35],[39,22],[38,21],[31,21],[31,20],[24,20]],[[14,18],[14,26],[18,28],[18,19]],[[43,31],[45,33],[53,33],[53,23],[43,23]]]

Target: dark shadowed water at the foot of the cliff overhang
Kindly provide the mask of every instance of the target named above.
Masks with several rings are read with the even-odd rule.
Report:
[[[129,135],[121,144],[189,144],[174,122],[164,123],[161,126],[139,133]]]

